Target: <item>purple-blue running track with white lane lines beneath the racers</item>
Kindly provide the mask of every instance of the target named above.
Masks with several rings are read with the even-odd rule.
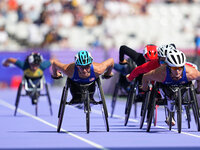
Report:
[[[124,101],[117,101],[115,115],[109,117],[110,132],[106,132],[101,107],[93,106],[91,113],[91,131],[86,133],[86,121],[83,110],[66,106],[60,133],[56,132],[57,114],[62,94],[61,89],[50,89],[53,116],[50,116],[46,97],[39,99],[38,117],[29,97],[21,97],[17,116],[14,117],[16,90],[6,89],[0,92],[0,149],[200,149],[200,132],[197,132],[192,116],[191,128],[183,116],[182,133],[177,127],[168,130],[165,124],[164,109],[158,108],[157,126],[151,132],[139,129],[139,118],[133,113],[128,125],[124,126]],[[98,100],[98,98],[97,98]],[[110,112],[110,98],[106,98]],[[138,111],[140,105],[138,105]],[[132,111],[133,112],[133,111]],[[139,112],[138,112],[139,116]]]

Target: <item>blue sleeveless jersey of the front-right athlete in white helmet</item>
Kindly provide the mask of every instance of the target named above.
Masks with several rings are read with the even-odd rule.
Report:
[[[185,66],[183,68],[183,76],[180,80],[172,80],[171,76],[170,76],[170,68],[167,66],[166,67],[166,72],[167,72],[167,75],[166,75],[166,78],[165,78],[165,81],[162,82],[163,84],[169,84],[169,85],[180,85],[180,84],[185,84],[185,83],[188,83],[188,80],[187,80],[187,77],[186,77],[186,69],[185,69]]]

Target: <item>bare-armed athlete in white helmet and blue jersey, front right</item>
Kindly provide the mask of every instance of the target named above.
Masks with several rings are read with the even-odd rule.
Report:
[[[194,67],[187,65],[185,54],[174,48],[167,51],[166,64],[143,75],[142,89],[144,91],[148,90],[149,81],[156,81],[173,86],[184,85],[193,80],[197,81],[196,93],[199,94],[200,72]],[[168,108],[173,108],[172,105],[168,105]],[[166,120],[166,122],[169,124],[169,120]],[[175,121],[173,121],[173,124],[175,125]]]

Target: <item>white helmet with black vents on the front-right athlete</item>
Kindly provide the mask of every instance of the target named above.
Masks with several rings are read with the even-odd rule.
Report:
[[[185,54],[177,49],[167,51],[166,63],[170,67],[182,67],[186,63]]]

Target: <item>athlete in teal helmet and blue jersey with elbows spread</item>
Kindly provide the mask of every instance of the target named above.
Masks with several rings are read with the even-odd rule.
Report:
[[[63,64],[56,59],[51,60],[52,63],[52,77],[59,78],[63,72],[70,79],[70,92],[72,100],[71,104],[82,103],[80,87],[78,84],[88,84],[94,82],[100,75],[105,78],[113,76],[112,68],[114,66],[113,58],[109,58],[102,63],[93,62],[93,58],[88,51],[82,50],[75,55],[75,62],[70,64]],[[90,102],[97,104],[94,100],[95,82],[89,87]]]

